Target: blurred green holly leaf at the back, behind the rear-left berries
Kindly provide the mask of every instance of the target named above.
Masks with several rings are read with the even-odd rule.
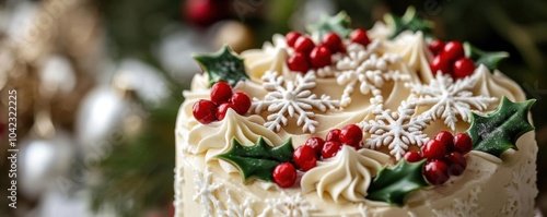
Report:
[[[341,11],[335,16],[323,16],[318,24],[307,26],[307,32],[318,38],[323,38],[323,35],[330,32],[335,32],[340,37],[347,38],[351,33],[350,23],[351,20],[348,14]]]

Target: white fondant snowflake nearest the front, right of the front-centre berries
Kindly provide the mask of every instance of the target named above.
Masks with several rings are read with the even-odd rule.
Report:
[[[373,107],[374,120],[362,121],[359,125],[365,133],[371,134],[364,145],[369,148],[387,146],[389,154],[399,160],[405,155],[409,145],[421,147],[428,136],[422,132],[431,121],[427,116],[414,117],[416,105],[403,101],[397,112],[383,109],[382,106]]]

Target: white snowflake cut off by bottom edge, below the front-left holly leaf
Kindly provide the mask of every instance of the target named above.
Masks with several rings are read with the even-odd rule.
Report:
[[[267,205],[264,212],[259,215],[265,216],[292,216],[306,217],[311,216],[311,212],[315,207],[304,200],[300,193],[289,196],[282,193],[281,198],[266,198],[264,203]],[[271,215],[268,215],[271,214]]]

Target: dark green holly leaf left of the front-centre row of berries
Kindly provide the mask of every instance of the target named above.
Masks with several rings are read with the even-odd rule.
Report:
[[[234,137],[232,148],[217,157],[234,165],[242,173],[244,182],[251,178],[272,181],[274,168],[279,164],[291,161],[293,152],[291,138],[282,145],[272,147],[263,137],[253,146],[243,146]]]

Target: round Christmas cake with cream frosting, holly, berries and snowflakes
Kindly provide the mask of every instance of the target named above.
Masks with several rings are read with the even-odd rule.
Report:
[[[497,70],[507,53],[386,21],[195,56],[176,216],[533,216],[534,100]]]

